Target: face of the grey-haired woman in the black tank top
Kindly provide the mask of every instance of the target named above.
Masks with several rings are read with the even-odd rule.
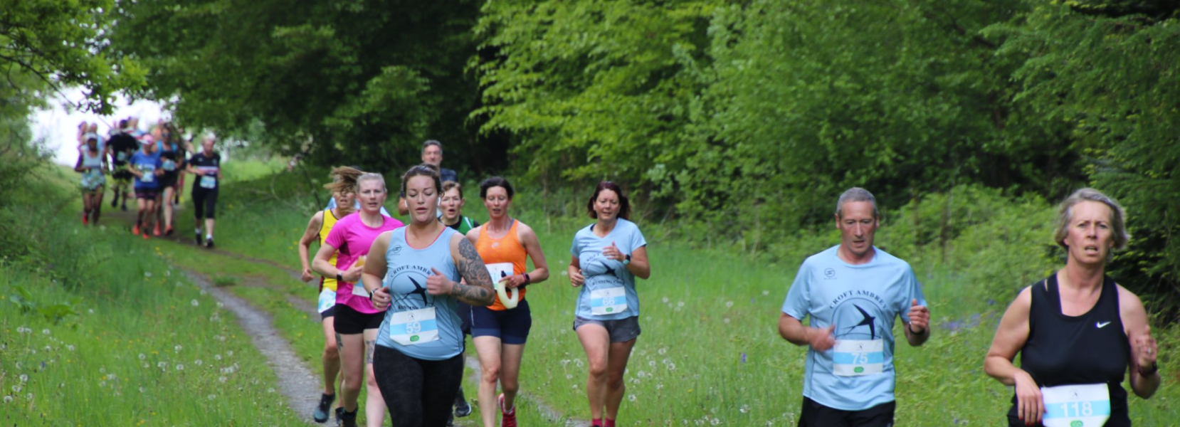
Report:
[[[1086,201],[1070,208],[1070,212],[1064,241],[1069,261],[1083,264],[1106,263],[1107,254],[1114,245],[1110,206]]]

